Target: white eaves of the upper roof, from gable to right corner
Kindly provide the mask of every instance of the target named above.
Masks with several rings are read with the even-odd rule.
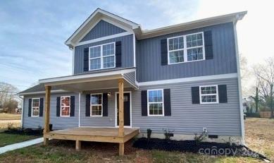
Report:
[[[68,47],[75,46],[75,44],[77,44],[77,42],[79,42],[82,37],[85,37],[85,35],[87,35],[87,32],[92,30],[92,28],[96,25],[96,23],[99,22],[99,20],[106,20],[108,21],[108,23],[117,25],[119,28],[123,28],[129,32],[132,32],[132,34],[135,34],[137,40],[142,40],[149,37],[156,37],[159,35],[170,34],[172,32],[191,30],[220,23],[237,23],[237,20],[242,20],[245,14],[247,14],[247,11],[194,20],[187,23],[180,23],[177,25],[170,25],[163,28],[156,28],[154,30],[142,30],[141,25],[134,23],[131,20],[127,20],[108,11],[104,11],[101,8],[97,8],[96,11],[94,11],[94,13],[92,13],[92,15],[89,16],[89,18],[87,18],[87,20],[85,20],[82,25],[80,25],[80,27],[73,33],[73,35],[71,35],[68,40],[66,40],[65,44],[67,44]]]

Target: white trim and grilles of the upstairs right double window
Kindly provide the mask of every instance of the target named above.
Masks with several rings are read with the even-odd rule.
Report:
[[[189,35],[197,35],[197,34],[202,34],[202,40],[203,40],[203,45],[202,46],[197,46],[197,47],[187,47],[187,36]],[[170,39],[175,39],[178,37],[183,37],[184,38],[184,48],[183,49],[176,49],[176,50],[169,50],[169,45],[168,42]],[[194,49],[194,48],[199,48],[199,47],[203,47],[203,59],[199,59],[199,60],[194,60],[194,61],[204,61],[206,59],[206,52],[205,52],[205,46],[204,46],[204,32],[196,32],[196,33],[190,33],[187,35],[180,35],[180,36],[176,36],[176,37],[169,37],[168,41],[167,41],[167,46],[168,46],[168,65],[171,65],[170,63],[170,59],[169,59],[169,53],[170,52],[175,52],[175,51],[179,51],[179,50],[183,50],[184,51],[184,61],[182,62],[177,62],[177,63],[172,63],[172,64],[182,64],[182,63],[187,63],[187,62],[192,62],[192,61],[187,61],[187,49]]]

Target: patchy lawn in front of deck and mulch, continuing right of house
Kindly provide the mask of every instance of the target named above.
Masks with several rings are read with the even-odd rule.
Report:
[[[246,142],[274,162],[274,120],[247,119]],[[125,145],[125,156],[118,156],[113,143],[83,143],[80,152],[75,142],[51,140],[49,146],[35,145],[0,155],[0,162],[261,162],[250,157],[215,157],[194,153],[139,150]]]

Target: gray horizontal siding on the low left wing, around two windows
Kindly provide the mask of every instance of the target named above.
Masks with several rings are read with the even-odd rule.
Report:
[[[56,98],[60,96],[75,96],[75,113],[71,117],[56,116]],[[28,116],[28,106],[30,98],[44,98],[43,104],[43,116],[32,117]],[[53,125],[54,130],[64,128],[78,127],[79,120],[79,94],[77,93],[62,93],[62,94],[51,94],[51,110],[49,123]],[[23,110],[23,128],[38,128],[41,126],[44,128],[44,116],[45,116],[45,96],[44,95],[31,95],[24,97],[24,110]]]

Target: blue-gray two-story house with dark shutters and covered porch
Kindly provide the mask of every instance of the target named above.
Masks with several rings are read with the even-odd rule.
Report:
[[[246,13],[142,30],[96,9],[65,42],[73,75],[41,79],[20,92],[23,128],[118,128],[120,122],[139,128],[140,136],[150,128],[152,137],[163,138],[165,128],[174,139],[206,130],[213,141],[242,140],[235,25]]]

